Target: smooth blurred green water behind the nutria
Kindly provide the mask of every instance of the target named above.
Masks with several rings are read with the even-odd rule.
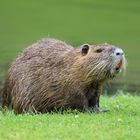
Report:
[[[108,42],[128,60],[126,76],[116,82],[139,90],[139,0],[0,0],[0,79],[22,48],[42,37],[74,46]]]

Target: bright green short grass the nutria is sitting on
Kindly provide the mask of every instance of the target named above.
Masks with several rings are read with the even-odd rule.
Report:
[[[139,140],[140,97],[102,96],[106,113],[0,113],[1,140]]]

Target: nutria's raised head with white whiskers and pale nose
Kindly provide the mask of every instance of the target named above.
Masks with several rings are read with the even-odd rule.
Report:
[[[87,78],[94,78],[94,80],[112,79],[125,69],[124,52],[114,45],[90,46],[85,44],[81,47],[81,52],[86,63]]]

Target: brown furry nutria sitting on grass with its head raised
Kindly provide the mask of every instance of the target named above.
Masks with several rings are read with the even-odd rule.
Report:
[[[16,113],[56,108],[98,111],[103,84],[124,67],[124,53],[113,45],[73,48],[56,39],[42,39],[12,63],[2,106]]]

